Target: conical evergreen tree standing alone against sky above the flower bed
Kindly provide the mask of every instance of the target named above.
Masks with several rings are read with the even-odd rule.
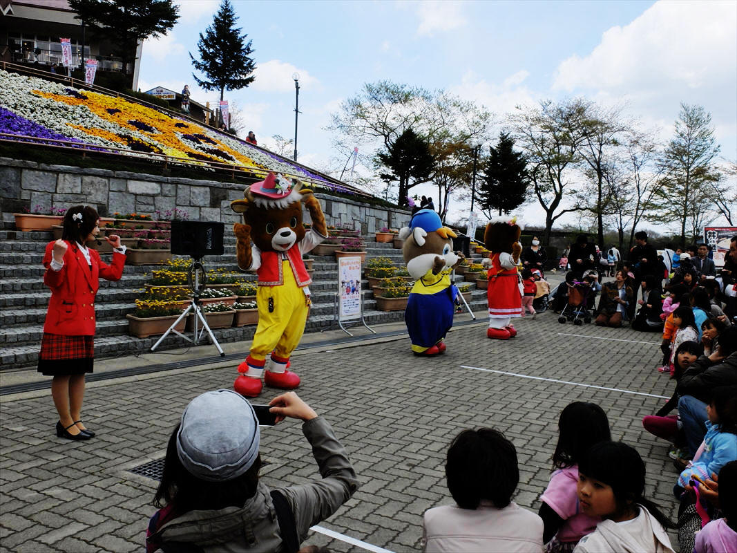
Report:
[[[199,72],[206,75],[207,80],[195,77],[195,82],[205,90],[220,91],[220,100],[227,90],[240,90],[254,82],[256,77],[251,73],[256,69],[256,62],[251,58],[251,42],[245,43],[246,34],[241,35],[241,29],[236,28],[238,18],[230,0],[223,0],[212,25],[205,29],[205,35],[200,32],[197,47],[200,50],[200,60],[195,60],[192,52],[189,58],[192,65]]]

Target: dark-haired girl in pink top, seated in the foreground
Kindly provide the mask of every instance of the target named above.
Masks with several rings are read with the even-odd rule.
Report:
[[[539,515],[545,527],[542,540],[547,553],[569,553],[590,534],[601,518],[584,514],[579,505],[576,483],[579,459],[598,442],[612,439],[604,409],[595,403],[570,403],[558,419],[558,445],[553,453],[556,470],[540,496]]]

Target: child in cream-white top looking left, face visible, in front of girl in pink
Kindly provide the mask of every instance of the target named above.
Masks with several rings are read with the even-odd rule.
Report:
[[[574,553],[674,553],[666,528],[677,526],[649,499],[645,463],[622,442],[599,442],[579,462],[581,510],[604,519]]]

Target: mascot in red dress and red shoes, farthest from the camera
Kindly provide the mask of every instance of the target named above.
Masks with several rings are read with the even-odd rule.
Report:
[[[483,241],[491,251],[489,259],[489,330],[486,335],[497,340],[509,340],[517,335],[511,324],[513,317],[522,316],[522,288],[517,263],[520,262],[522,228],[517,218],[492,220],[486,225]]]

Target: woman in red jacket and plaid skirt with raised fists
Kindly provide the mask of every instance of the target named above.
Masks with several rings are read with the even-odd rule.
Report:
[[[49,309],[43,324],[38,372],[53,376],[54,405],[59,412],[56,435],[82,440],[94,437],[83,425],[80,411],[85,394],[85,373],[94,364],[94,300],[99,278],[119,280],[125,265],[120,237],[105,240],[113,246],[113,264],[100,260],[87,248],[99,232],[99,216],[90,206],[74,206],[66,212],[61,240],[49,242],[43,255],[43,282],[51,288]]]

